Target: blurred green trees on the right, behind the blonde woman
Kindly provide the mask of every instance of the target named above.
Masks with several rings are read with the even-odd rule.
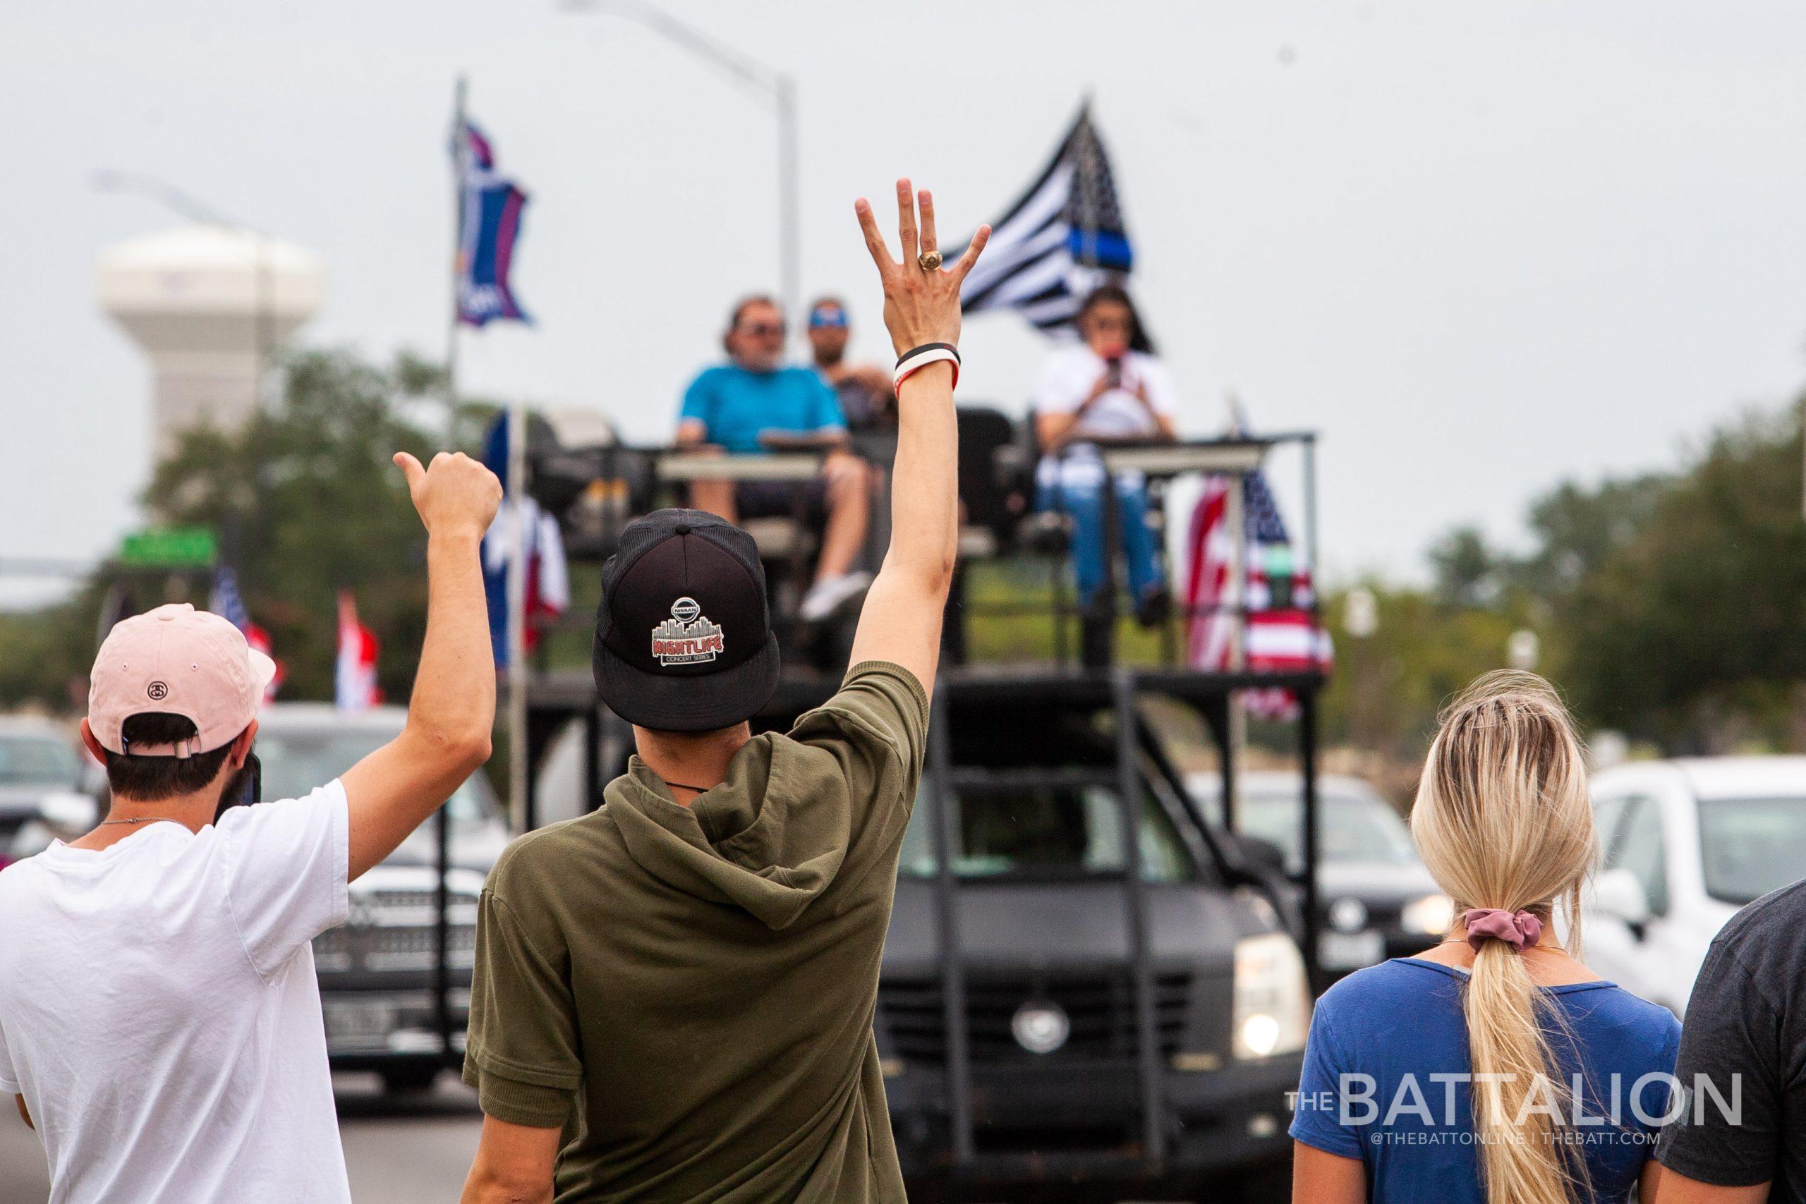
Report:
[[[1663,755],[1806,747],[1802,404],[1739,413],[1665,471],[1555,486],[1526,551],[1447,533],[1429,588],[1365,583],[1365,641],[1340,630],[1347,590],[1331,597],[1331,736],[1421,751],[1441,700],[1528,630],[1589,731]]]

